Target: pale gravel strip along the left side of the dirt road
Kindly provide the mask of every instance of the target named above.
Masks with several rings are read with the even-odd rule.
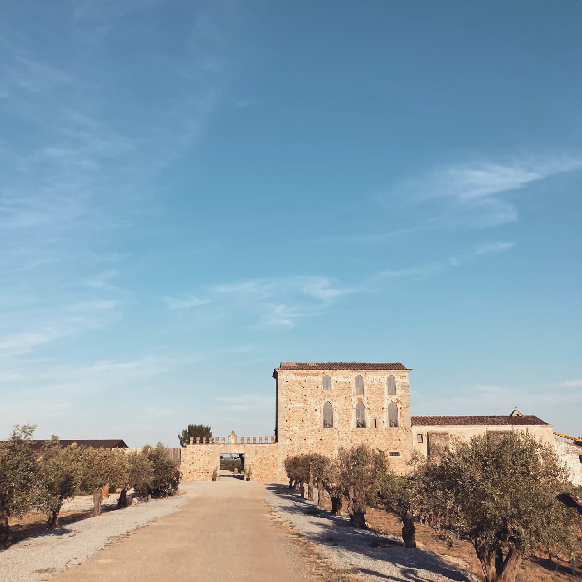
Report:
[[[10,546],[0,552],[0,582],[48,580],[66,567],[84,562],[114,538],[174,512],[197,496],[187,487],[181,488],[186,491],[183,495],[103,513]],[[80,502],[81,508],[84,501]],[[112,496],[107,501],[112,502]]]

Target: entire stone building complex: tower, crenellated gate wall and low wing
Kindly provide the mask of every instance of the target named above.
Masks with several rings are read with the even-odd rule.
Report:
[[[274,437],[238,437],[233,431],[190,443],[182,449],[183,478],[209,480],[228,454],[244,455],[253,480],[280,481],[288,456],[333,457],[340,447],[363,442],[384,450],[393,470],[403,474],[413,450],[438,455],[455,438],[527,429],[555,441],[551,424],[517,410],[508,416],[411,416],[410,371],[399,362],[281,362],[273,371]]]

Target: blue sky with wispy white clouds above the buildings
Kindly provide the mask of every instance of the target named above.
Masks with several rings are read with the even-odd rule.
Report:
[[[279,361],[580,434],[582,2],[0,5],[0,428],[271,435]]]

